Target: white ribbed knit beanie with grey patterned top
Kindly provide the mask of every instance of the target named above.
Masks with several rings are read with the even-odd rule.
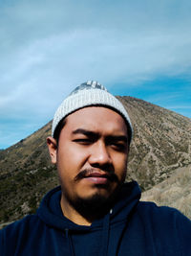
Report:
[[[129,142],[132,140],[133,128],[124,106],[107,89],[97,81],[87,81],[77,86],[74,91],[62,102],[55,111],[53,117],[52,135],[59,122],[73,113],[75,110],[85,106],[101,105],[117,111],[125,120],[130,129]]]

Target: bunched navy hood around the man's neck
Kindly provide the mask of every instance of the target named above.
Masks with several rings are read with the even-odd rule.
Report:
[[[37,215],[47,225],[61,230],[90,230],[94,227],[101,227],[104,224],[104,220],[97,220],[92,223],[91,226],[77,225],[73,221],[64,217],[61,206],[61,188],[56,187],[50,191],[43,199],[37,210]],[[138,204],[140,198],[140,189],[136,181],[123,184],[120,193],[117,197],[117,202],[114,208],[108,213],[107,219],[110,220],[110,224],[116,223],[127,219],[132,213],[134,207]]]

